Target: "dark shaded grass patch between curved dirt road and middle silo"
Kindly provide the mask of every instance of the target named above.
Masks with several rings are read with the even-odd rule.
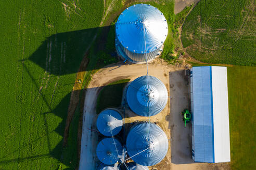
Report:
[[[122,102],[123,90],[127,82],[130,79],[122,79],[114,81],[105,86],[99,93],[97,98],[96,112],[99,114],[100,111],[108,107],[119,107]]]

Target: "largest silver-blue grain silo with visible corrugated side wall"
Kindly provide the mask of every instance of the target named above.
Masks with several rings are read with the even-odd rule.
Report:
[[[137,4],[126,8],[116,23],[116,49],[126,60],[153,60],[168,34],[167,20],[156,7]]]

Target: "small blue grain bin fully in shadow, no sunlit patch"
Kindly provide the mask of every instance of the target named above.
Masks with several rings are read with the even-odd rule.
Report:
[[[100,162],[112,165],[118,162],[118,155],[122,154],[122,145],[116,138],[105,138],[99,142],[96,154]]]

